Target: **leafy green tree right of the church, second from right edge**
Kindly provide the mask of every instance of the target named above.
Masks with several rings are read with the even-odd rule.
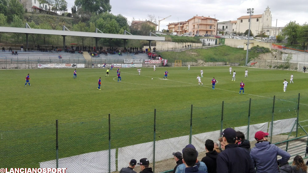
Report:
[[[298,38],[298,30],[299,30],[299,24],[296,23],[296,21],[289,22],[286,27],[282,30],[283,35],[285,37],[288,37],[288,43],[293,45],[297,42]]]

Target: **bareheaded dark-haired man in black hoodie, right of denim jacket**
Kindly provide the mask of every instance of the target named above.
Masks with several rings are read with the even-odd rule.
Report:
[[[216,173],[216,159],[218,153],[214,149],[214,141],[205,141],[206,156],[202,158],[201,162],[204,162],[208,168],[208,173]]]

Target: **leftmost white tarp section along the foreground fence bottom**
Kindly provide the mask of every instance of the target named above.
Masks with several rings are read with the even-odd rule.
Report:
[[[111,172],[115,171],[115,151],[111,149]],[[107,173],[109,172],[109,151],[97,151],[65,157],[59,159],[59,167],[67,168],[67,173],[75,172],[92,172],[92,173]],[[130,160],[129,160],[130,161]],[[128,162],[129,162],[128,161]],[[56,160],[40,162],[40,168],[56,167]]]

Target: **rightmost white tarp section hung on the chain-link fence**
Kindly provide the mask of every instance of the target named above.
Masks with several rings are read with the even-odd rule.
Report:
[[[290,133],[291,131],[296,131],[296,126],[292,129],[293,125],[296,123],[296,118],[284,119],[274,121],[273,124],[273,135],[278,135],[281,133]],[[272,122],[270,122],[269,134],[271,133]],[[270,134],[270,136],[272,136]]]

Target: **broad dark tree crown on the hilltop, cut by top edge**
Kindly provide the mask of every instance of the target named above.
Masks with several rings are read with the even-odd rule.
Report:
[[[89,12],[89,14],[92,12],[95,14],[100,14],[111,11],[110,0],[75,0],[75,5],[77,10]]]

